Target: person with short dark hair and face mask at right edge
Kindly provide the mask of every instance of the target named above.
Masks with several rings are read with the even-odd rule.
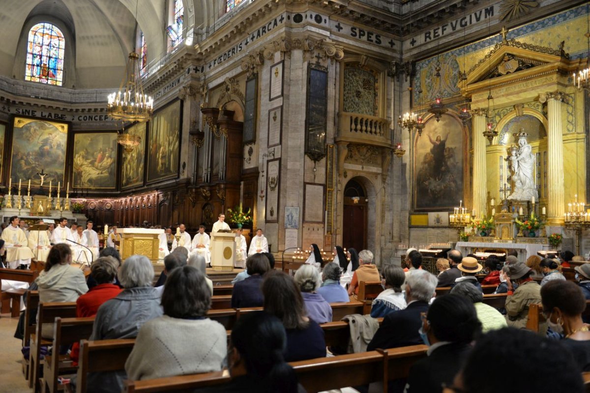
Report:
[[[590,325],[582,321],[582,290],[573,282],[552,281],[541,288],[541,299],[549,328],[565,336],[562,344],[572,351],[580,371],[590,371]]]

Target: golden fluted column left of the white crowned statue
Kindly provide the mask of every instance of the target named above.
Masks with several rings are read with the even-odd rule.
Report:
[[[473,207],[478,217],[487,215],[487,171],[486,171],[486,110],[473,111]]]

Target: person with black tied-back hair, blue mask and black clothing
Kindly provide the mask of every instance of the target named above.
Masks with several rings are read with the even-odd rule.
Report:
[[[481,333],[476,309],[464,296],[436,298],[421,317],[419,333],[430,348],[426,352],[428,357],[409,369],[405,393],[441,392],[442,384],[453,382],[471,342]]]

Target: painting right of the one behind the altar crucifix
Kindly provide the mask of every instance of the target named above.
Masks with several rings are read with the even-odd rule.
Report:
[[[76,134],[73,168],[77,189],[114,189],[117,186],[117,133]]]

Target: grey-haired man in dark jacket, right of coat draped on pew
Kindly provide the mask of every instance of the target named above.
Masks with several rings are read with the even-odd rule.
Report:
[[[418,333],[422,325],[420,315],[427,312],[428,303],[435,296],[437,282],[437,277],[426,270],[413,270],[406,277],[406,308],[383,317],[367,351],[422,344]]]

